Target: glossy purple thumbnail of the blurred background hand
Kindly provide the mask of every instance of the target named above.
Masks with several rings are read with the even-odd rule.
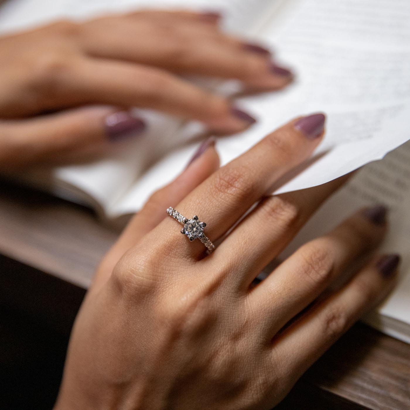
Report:
[[[105,118],[105,130],[112,141],[140,134],[146,128],[144,121],[128,111],[114,112]]]

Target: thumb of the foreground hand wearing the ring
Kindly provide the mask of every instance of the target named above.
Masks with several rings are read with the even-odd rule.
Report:
[[[192,157],[187,168],[169,185],[151,195],[141,211],[132,218],[118,241],[105,255],[93,279],[91,286],[93,291],[100,289],[100,286],[106,282],[121,256],[167,216],[165,211],[170,203],[179,203],[219,168],[219,156],[214,145],[214,137],[205,140]]]

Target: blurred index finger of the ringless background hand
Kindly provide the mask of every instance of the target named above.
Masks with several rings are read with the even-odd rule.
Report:
[[[155,67],[108,59],[85,59],[62,81],[70,103],[151,108],[202,121],[221,134],[244,130],[256,120],[223,96]],[[66,100],[64,100],[66,103]]]

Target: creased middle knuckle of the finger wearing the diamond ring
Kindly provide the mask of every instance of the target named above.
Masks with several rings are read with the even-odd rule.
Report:
[[[251,171],[244,166],[223,167],[214,175],[212,189],[241,200],[253,191],[250,174]]]

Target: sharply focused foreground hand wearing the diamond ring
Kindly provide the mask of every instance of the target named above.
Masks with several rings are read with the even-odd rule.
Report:
[[[369,257],[386,231],[383,207],[360,210],[254,284],[346,180],[265,196],[310,156],[323,123],[322,114],[294,120],[215,172],[210,147],[153,195],[98,269],[75,322],[56,410],[270,409],[390,292],[399,257]],[[223,238],[214,253],[180,234],[164,211],[173,204],[206,221],[213,241]],[[355,275],[330,293],[358,261]]]

